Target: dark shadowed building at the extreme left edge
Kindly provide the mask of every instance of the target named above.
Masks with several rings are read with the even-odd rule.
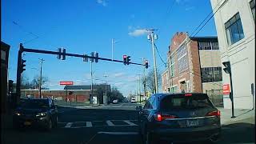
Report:
[[[1,42],[1,113],[6,113],[8,108],[8,59],[10,46]]]

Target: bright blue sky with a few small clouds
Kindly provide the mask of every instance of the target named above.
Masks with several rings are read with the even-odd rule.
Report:
[[[209,0],[2,0],[1,41],[10,48],[9,79],[16,80],[18,45],[26,48],[57,50],[66,48],[68,53],[90,54],[97,51],[99,57],[111,58],[111,38],[114,59],[122,60],[122,54],[131,56],[131,62],[149,60],[153,65],[152,48],[146,38],[145,28],[158,29],[156,45],[166,61],[170,39],[176,32],[189,32],[210,13]],[[214,19],[198,33],[198,36],[216,35]],[[31,40],[32,39],[32,40]],[[31,41],[30,41],[31,40]],[[32,80],[38,75],[38,58],[45,59],[42,73],[49,78],[50,89],[62,89],[59,81],[74,81],[75,85],[90,84],[90,63],[82,58],[58,60],[55,55],[31,54],[26,59],[24,74]],[[157,54],[158,71],[165,66]],[[136,90],[137,74],[143,74],[142,66],[124,66],[118,62],[93,63],[95,83],[105,82],[117,86],[126,96]],[[149,71],[150,69],[146,70]],[[160,88],[161,90],[161,88]]]

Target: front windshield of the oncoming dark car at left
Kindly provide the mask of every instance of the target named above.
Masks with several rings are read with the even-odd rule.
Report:
[[[24,100],[20,106],[25,109],[42,109],[49,107],[49,103],[45,99]]]

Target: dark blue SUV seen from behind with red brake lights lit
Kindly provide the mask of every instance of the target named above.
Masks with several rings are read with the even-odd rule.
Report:
[[[220,111],[207,94],[154,94],[139,109],[145,143],[216,142],[220,138]]]

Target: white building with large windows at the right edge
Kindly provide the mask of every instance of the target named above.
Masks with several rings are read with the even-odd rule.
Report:
[[[221,61],[230,62],[234,108],[255,106],[255,0],[211,0]],[[223,66],[222,66],[223,68]],[[222,70],[223,85],[230,84]],[[229,95],[223,96],[224,108],[230,109]]]

